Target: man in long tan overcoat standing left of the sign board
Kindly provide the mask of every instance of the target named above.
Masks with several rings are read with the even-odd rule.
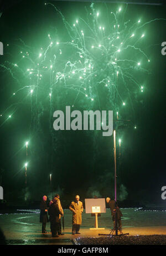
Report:
[[[75,201],[71,202],[69,209],[72,211],[72,234],[80,234],[80,225],[82,223],[83,204],[79,195],[76,195]]]

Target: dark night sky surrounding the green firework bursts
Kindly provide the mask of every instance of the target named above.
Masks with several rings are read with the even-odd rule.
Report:
[[[0,1],[0,3],[3,1]],[[8,2],[8,1],[4,1]],[[13,1],[14,2],[14,1]],[[14,62],[17,53],[7,44],[17,44],[21,38],[26,45],[42,47],[40,38],[48,33],[56,33],[59,17],[44,1],[15,1],[4,7],[0,18],[0,41],[4,44],[4,61]],[[67,20],[83,12],[89,3],[53,2]],[[107,4],[115,8],[115,4]],[[98,3],[98,8],[102,7]],[[146,21],[166,18],[165,7],[129,5],[126,15],[129,18],[142,17]],[[153,29],[152,29],[153,28]],[[162,202],[160,189],[166,185],[165,178],[165,56],[161,54],[161,44],[166,41],[165,22],[155,22],[146,27],[147,55],[151,57],[151,74],[146,79],[146,89],[142,104],[136,108],[137,129],[129,127],[121,132],[121,159],[118,159],[118,188],[123,184],[121,194],[128,200],[141,202]],[[61,37],[65,31],[60,31]],[[20,44],[19,44],[20,45]],[[12,55],[11,55],[12,52]],[[11,105],[13,94],[12,80],[7,72],[0,69],[0,112]],[[14,86],[14,85],[13,85]],[[23,94],[25,97],[25,95]],[[66,105],[65,105],[66,106]],[[136,107],[136,106],[135,106]],[[14,117],[8,122],[0,120],[1,155],[0,168],[4,198],[18,200],[24,192],[24,168],[26,150],[24,142],[30,141],[28,158],[27,186],[30,199],[39,199],[50,193],[49,174],[52,173],[52,189],[62,197],[72,199],[75,194],[82,198],[91,197],[96,190],[101,197],[113,193],[113,138],[89,138],[84,132],[59,133],[58,150],[53,149],[48,134],[48,113],[42,119],[43,133],[29,138],[30,104],[20,104]],[[7,112],[9,113],[9,112]],[[0,113],[1,114],[1,113]],[[10,123],[9,123],[10,122]],[[32,135],[32,133],[31,133]],[[119,153],[119,152],[117,152]],[[23,169],[22,169],[23,168]],[[122,187],[121,187],[122,188]],[[125,189],[124,189],[125,188]],[[125,197],[125,191],[127,196]]]

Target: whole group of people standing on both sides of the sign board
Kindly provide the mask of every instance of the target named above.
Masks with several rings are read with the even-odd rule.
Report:
[[[46,231],[46,223],[50,222],[50,229],[52,237],[59,237],[59,235],[64,235],[61,232],[61,217],[64,217],[64,211],[61,207],[60,196],[55,195],[54,199],[50,201],[49,207],[46,204],[47,197],[43,196],[43,200],[40,203],[40,223],[42,223],[42,233],[48,233]],[[120,208],[116,205],[115,200],[107,197],[106,202],[111,209],[111,215],[113,220],[113,225],[116,225],[116,210],[117,210],[117,222],[118,229],[122,229],[121,217],[122,213]],[[72,234],[80,234],[80,225],[82,223],[82,212],[84,210],[83,204],[80,201],[79,195],[76,195],[75,200],[71,202],[69,209],[72,212]],[[49,217],[48,217],[49,215]]]

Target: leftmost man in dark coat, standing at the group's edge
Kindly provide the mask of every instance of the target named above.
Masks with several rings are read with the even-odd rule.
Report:
[[[48,222],[48,207],[46,205],[46,195],[43,196],[43,200],[40,203],[40,223],[42,223],[42,233],[48,233],[45,231],[46,222]]]

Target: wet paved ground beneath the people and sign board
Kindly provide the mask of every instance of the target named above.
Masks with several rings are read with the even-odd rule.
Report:
[[[166,235],[166,212],[165,211],[138,211],[136,208],[121,209],[123,213],[122,225],[123,233],[129,235]],[[81,235],[71,234],[71,212],[65,213],[65,234],[59,238],[52,238],[50,233],[50,223],[46,229],[48,234],[41,234],[41,224],[39,223],[39,210],[17,211],[12,214],[1,214],[0,227],[6,237],[8,244],[59,244],[71,245],[72,239],[83,237],[97,237],[98,233],[109,234],[112,228],[110,209],[98,217],[98,227],[105,230],[90,230],[94,227],[95,217],[91,214],[82,214]]]

